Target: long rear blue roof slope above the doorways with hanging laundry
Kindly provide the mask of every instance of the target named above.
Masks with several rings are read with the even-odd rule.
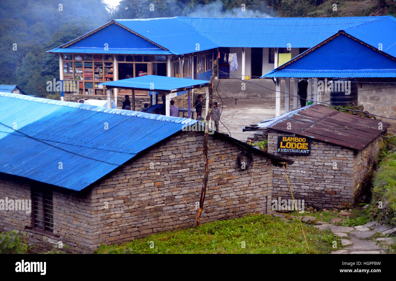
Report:
[[[381,17],[200,18],[179,17],[220,47],[310,48],[341,29]]]

